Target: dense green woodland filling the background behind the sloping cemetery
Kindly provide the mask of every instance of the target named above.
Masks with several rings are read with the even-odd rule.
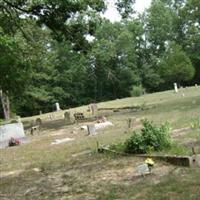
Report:
[[[138,15],[134,2],[117,0],[122,19],[111,23],[104,0],[0,0],[0,91],[12,113],[200,83],[200,1],[152,0]]]

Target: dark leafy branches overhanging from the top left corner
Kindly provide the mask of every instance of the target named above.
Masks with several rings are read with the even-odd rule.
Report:
[[[103,0],[0,0],[0,8],[6,15],[15,13],[15,23],[22,16],[30,18],[39,26],[45,25],[58,41],[74,43],[75,50],[87,51],[89,43],[85,35],[95,31],[94,13],[105,9]]]

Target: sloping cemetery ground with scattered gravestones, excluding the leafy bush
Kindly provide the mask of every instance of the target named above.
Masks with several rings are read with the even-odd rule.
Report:
[[[96,199],[96,195],[106,199],[115,191],[110,199],[135,195],[154,199],[173,181],[181,197],[189,199],[186,188],[198,190],[189,183],[199,179],[199,109],[200,88],[190,87],[59,109],[1,125],[0,186],[4,192],[0,195],[3,199],[11,199],[14,193],[16,199],[41,195],[44,199]],[[133,132],[144,129],[145,119],[155,127],[170,124],[170,147],[143,154],[123,151]],[[7,147],[11,137],[20,144]],[[146,196],[149,190],[151,198]]]

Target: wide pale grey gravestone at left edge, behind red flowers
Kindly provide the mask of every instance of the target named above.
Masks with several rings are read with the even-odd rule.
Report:
[[[13,123],[0,126],[0,148],[7,147],[11,138],[22,140],[25,137],[26,136],[22,123]]]

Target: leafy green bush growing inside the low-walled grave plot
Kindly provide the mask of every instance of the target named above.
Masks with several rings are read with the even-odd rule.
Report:
[[[168,148],[172,144],[170,130],[169,123],[157,126],[144,120],[141,132],[134,131],[133,135],[125,142],[125,152],[148,153]]]

